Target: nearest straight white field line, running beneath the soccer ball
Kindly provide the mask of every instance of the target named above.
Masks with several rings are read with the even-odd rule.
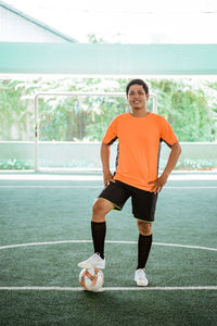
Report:
[[[5,291],[84,291],[81,287],[0,287]],[[99,292],[104,291],[187,291],[187,290],[217,290],[217,286],[204,287],[104,287]]]

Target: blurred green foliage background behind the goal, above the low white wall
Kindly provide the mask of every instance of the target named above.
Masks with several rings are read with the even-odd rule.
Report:
[[[124,91],[129,78],[44,78],[0,80],[0,140],[34,140],[34,96],[37,91]],[[217,140],[217,82],[204,78],[151,78],[158,114],[180,141]],[[149,103],[152,110],[152,100]],[[63,97],[39,99],[39,139],[100,141],[119,113],[129,111],[126,97]]]

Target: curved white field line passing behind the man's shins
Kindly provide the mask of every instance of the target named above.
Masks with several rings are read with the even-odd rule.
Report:
[[[31,246],[49,246],[49,244],[63,244],[63,243],[91,243],[91,242],[92,242],[92,240],[63,240],[63,241],[30,242],[30,243],[17,243],[17,244],[0,246],[0,250],[21,248],[21,247],[31,247]],[[137,244],[138,242],[137,241],[106,240],[105,243]],[[217,251],[217,248],[200,247],[200,246],[189,246],[189,244],[178,244],[178,243],[163,243],[163,242],[153,242],[153,244],[154,246],[165,246],[165,247],[176,247],[176,248]]]

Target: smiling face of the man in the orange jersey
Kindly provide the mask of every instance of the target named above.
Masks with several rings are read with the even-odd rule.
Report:
[[[128,91],[127,100],[135,110],[144,109],[149,95],[145,93],[142,85],[131,85]]]

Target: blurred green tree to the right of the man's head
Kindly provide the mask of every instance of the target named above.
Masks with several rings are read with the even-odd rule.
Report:
[[[157,93],[158,113],[171,124],[180,141],[215,141],[214,103],[192,79],[150,80]]]

